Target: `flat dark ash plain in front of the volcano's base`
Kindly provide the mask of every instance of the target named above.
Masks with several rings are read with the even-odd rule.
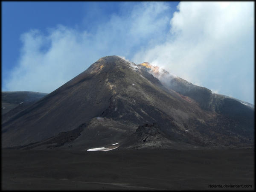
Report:
[[[209,188],[209,185],[252,188]],[[253,190],[253,149],[2,150],[3,190]]]

